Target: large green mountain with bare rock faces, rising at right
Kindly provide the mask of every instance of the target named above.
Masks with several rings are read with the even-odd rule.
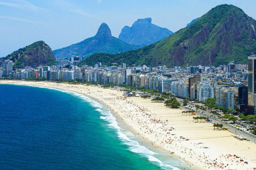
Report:
[[[256,21],[234,5],[218,5],[188,27],[138,50],[116,55],[95,54],[84,61],[88,65],[102,62],[127,66],[146,64],[221,65],[230,61],[247,63],[256,54]],[[110,64],[109,64],[110,63]]]

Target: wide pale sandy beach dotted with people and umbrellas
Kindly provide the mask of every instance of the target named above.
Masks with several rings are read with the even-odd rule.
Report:
[[[12,80],[0,80],[0,83],[60,88],[84,94],[106,105],[152,145],[198,169],[246,170],[256,167],[256,144],[239,141],[229,131],[213,130],[212,123],[195,123],[193,116],[183,116],[183,110],[170,109],[164,103],[125,97],[123,92],[96,86]]]

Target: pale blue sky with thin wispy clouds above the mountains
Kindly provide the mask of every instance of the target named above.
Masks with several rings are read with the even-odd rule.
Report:
[[[0,0],[0,58],[43,40],[52,50],[92,37],[102,22],[112,36],[138,18],[173,32],[221,4],[256,19],[255,0]]]

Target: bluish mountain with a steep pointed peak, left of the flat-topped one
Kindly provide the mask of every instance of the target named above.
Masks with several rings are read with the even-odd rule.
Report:
[[[88,57],[95,52],[115,54],[122,51],[138,49],[139,47],[141,46],[127,44],[124,41],[112,37],[108,25],[102,23],[94,37],[90,37],[65,48],[53,50],[53,54],[57,59],[71,56]]]

